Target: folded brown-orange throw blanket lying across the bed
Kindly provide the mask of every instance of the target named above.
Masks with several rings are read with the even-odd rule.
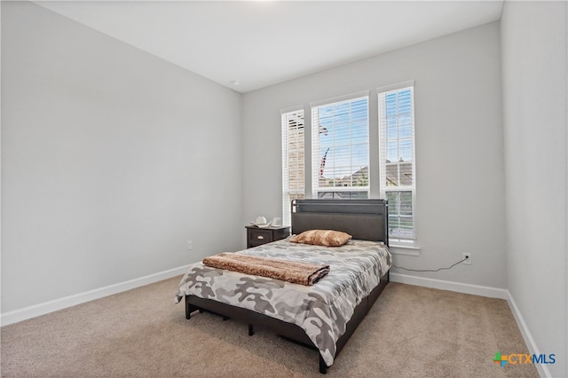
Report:
[[[211,268],[254,274],[306,286],[315,284],[329,272],[329,265],[325,264],[307,264],[229,252],[205,257],[203,264]]]

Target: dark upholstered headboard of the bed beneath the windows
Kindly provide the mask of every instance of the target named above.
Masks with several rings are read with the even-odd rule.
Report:
[[[388,214],[386,200],[294,200],[292,233],[336,230],[389,245]]]

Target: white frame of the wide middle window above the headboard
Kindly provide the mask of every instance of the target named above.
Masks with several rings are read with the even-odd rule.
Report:
[[[367,155],[370,154],[370,139],[369,139],[369,91],[361,91],[358,93],[352,93],[346,96],[341,96],[337,98],[328,98],[318,102],[310,103],[311,114],[312,114],[312,198],[319,198],[319,193],[331,192],[364,192],[366,198],[370,195],[370,175],[367,174],[369,183],[366,186],[328,186],[319,187],[319,170],[321,166],[322,156],[320,156],[319,151],[319,115],[318,111],[320,107],[332,106],[335,104],[340,104],[343,102],[353,101],[360,98],[367,99]],[[368,158],[370,160],[370,158]],[[369,162],[367,160],[367,169],[369,169]],[[327,161],[328,164],[328,161]],[[353,173],[353,172],[351,172]]]

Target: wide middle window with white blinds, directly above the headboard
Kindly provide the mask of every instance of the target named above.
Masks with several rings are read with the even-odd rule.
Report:
[[[368,92],[312,104],[314,198],[368,198]]]

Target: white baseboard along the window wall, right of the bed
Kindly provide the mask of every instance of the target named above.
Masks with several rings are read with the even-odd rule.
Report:
[[[409,276],[407,274],[390,273],[392,282],[408,285],[438,288],[440,290],[455,291],[457,293],[487,296],[489,298],[509,299],[509,290],[497,287],[464,284],[445,280],[428,279],[424,277]]]

